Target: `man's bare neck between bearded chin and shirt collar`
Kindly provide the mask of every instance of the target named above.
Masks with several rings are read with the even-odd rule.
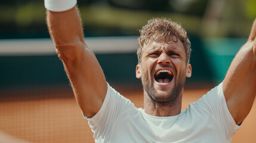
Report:
[[[178,115],[181,112],[182,95],[183,95],[183,91],[180,92],[180,94],[174,101],[155,102],[144,91],[145,113],[150,114],[152,116],[158,116],[158,117]]]

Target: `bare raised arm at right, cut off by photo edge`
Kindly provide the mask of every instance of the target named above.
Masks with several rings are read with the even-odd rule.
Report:
[[[256,95],[256,20],[248,41],[240,48],[223,81],[227,107],[239,125],[251,110]]]

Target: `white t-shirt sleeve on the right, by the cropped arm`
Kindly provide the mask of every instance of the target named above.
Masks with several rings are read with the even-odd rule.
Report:
[[[206,110],[208,114],[211,114],[217,123],[219,123],[226,138],[231,140],[240,126],[236,125],[235,120],[227,108],[222,85],[223,83],[220,83],[220,85],[203,95],[195,104],[199,104],[198,107],[201,107],[202,110]]]

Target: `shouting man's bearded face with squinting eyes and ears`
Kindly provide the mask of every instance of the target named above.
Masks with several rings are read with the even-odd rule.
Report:
[[[141,78],[144,91],[154,102],[174,101],[192,71],[191,65],[186,64],[183,43],[151,42],[142,50],[136,77]]]

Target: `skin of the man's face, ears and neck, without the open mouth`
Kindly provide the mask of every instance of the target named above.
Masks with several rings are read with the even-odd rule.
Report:
[[[181,111],[183,86],[192,68],[186,63],[186,52],[180,40],[165,43],[152,42],[143,46],[141,64],[136,67],[136,77],[144,87],[144,109],[153,116],[175,116]],[[169,83],[156,82],[158,70],[170,70],[173,79]]]

